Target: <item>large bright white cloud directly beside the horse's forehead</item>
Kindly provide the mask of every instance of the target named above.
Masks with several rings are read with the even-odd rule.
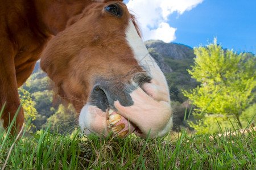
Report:
[[[171,42],[176,39],[177,28],[168,24],[168,16],[175,11],[181,15],[201,2],[203,0],[130,0],[127,7],[139,22],[143,40]]]

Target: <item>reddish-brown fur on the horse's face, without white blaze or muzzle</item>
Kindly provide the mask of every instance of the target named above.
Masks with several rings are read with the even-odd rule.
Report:
[[[69,20],[72,25],[54,37],[42,54],[41,67],[55,83],[57,94],[72,103],[78,113],[98,77],[114,75],[124,82],[125,75],[138,66],[125,43],[128,21],[134,21],[134,17],[127,8],[122,19],[113,17],[102,10],[104,6],[105,3],[92,4]]]

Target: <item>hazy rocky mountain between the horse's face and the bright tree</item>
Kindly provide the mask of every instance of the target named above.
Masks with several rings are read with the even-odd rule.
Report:
[[[196,57],[193,48],[160,40],[148,40],[145,45],[166,75],[171,100],[183,103],[187,98],[181,93],[181,90],[190,90],[198,85],[187,71],[191,69],[193,58]]]

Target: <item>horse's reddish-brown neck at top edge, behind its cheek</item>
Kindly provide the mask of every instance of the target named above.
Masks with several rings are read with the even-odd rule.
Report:
[[[36,0],[34,1],[36,20],[41,32],[57,35],[63,31],[73,16],[93,3],[93,0]]]

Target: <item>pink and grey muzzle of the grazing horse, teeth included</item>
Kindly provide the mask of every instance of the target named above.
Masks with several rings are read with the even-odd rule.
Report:
[[[109,133],[126,137],[134,133],[142,138],[162,137],[172,127],[168,87],[154,78],[134,76],[130,83],[97,80],[79,116],[85,134]],[[120,81],[120,80],[119,80]],[[113,83],[114,82],[114,83]]]

